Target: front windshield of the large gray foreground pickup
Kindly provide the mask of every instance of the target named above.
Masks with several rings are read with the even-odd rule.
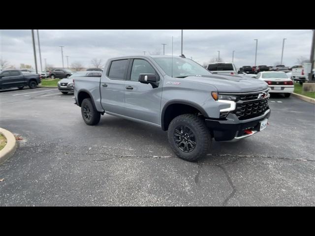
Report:
[[[168,76],[185,78],[188,76],[209,76],[210,71],[187,58],[153,58]]]

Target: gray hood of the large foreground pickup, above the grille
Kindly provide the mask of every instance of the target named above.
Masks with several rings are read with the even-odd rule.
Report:
[[[189,76],[183,80],[212,85],[219,92],[253,92],[268,89],[268,84],[264,81],[237,75]]]

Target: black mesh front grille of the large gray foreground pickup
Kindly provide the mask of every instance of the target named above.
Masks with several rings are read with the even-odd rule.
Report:
[[[240,120],[244,120],[259,117],[268,109],[268,99],[262,99],[242,103],[237,102],[236,108],[232,113],[234,113]]]

